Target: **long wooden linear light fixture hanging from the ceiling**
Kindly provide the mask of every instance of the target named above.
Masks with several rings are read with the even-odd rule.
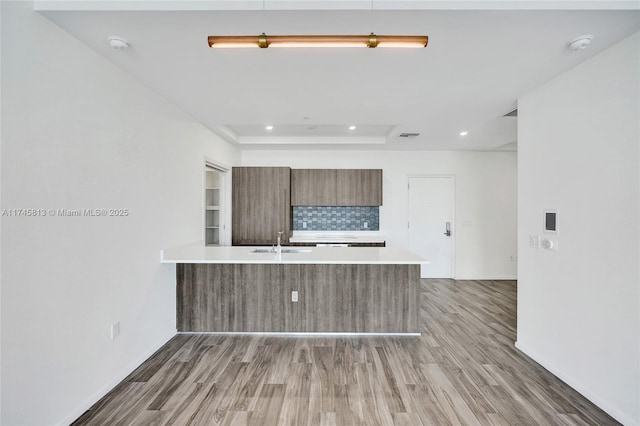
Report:
[[[287,35],[209,36],[209,47],[427,47],[428,36],[408,35]]]

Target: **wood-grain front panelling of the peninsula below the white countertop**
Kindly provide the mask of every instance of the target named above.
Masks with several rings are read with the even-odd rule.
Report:
[[[416,333],[419,276],[418,265],[178,264],[177,328]]]

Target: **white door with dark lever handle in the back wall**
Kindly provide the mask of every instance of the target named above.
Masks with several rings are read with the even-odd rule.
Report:
[[[422,278],[453,278],[453,177],[409,178],[409,249]]]

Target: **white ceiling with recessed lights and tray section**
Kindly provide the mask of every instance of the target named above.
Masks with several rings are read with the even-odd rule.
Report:
[[[311,0],[40,1],[35,8],[243,149],[515,150],[517,117],[504,115],[518,97],[640,30],[637,2],[609,3],[636,3],[635,10],[576,10],[602,3],[588,1],[556,3],[572,3],[565,10],[516,7],[549,2],[477,1],[476,10],[445,3],[336,0],[322,7],[341,10],[318,10]],[[407,7],[415,10],[394,10]],[[207,45],[209,35],[262,32],[416,34],[428,35],[429,45]],[[594,35],[587,49],[567,47],[583,34]],[[113,35],[131,48],[111,49]]]

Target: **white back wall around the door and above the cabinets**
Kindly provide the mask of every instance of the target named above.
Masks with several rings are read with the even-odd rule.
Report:
[[[389,246],[405,248],[408,247],[408,176],[455,175],[455,276],[458,279],[515,278],[516,163],[515,152],[242,152],[245,166],[383,169],[380,231]]]

